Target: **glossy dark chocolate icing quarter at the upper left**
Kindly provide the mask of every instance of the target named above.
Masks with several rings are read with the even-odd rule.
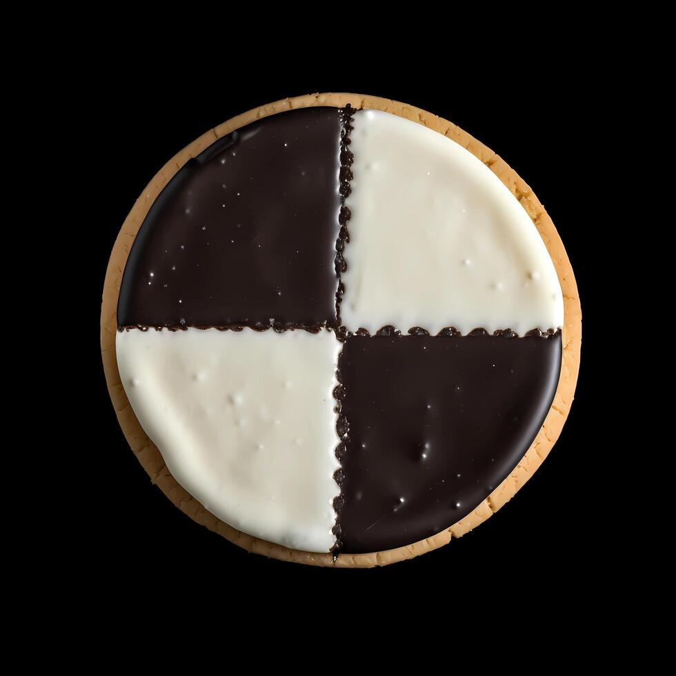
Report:
[[[190,159],[132,246],[118,326],[335,326],[343,129],[291,110]]]

